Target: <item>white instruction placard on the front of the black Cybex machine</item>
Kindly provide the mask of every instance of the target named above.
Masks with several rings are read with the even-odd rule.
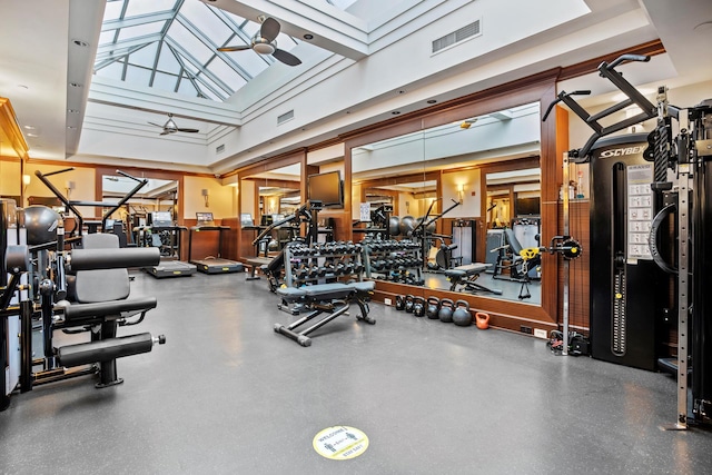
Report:
[[[627,232],[626,260],[634,264],[637,259],[652,260],[647,243],[653,221],[653,165],[630,165],[626,170],[627,186]]]

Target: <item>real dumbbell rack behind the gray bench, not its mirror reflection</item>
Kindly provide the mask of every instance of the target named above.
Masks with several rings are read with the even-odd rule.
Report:
[[[328,284],[339,279],[362,280],[363,248],[353,243],[293,243],[285,248],[285,285]]]

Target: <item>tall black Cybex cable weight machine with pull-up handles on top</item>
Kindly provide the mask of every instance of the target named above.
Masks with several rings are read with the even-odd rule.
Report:
[[[712,417],[712,100],[679,108],[668,102],[668,90],[660,87],[653,105],[615,70],[623,61],[649,59],[623,55],[599,67],[601,76],[627,97],[609,109],[590,115],[572,97],[590,91],[562,91],[554,103],[563,101],[594,130],[584,147],[571,150],[566,158],[593,160],[592,167],[603,164],[591,174],[591,235],[603,239],[592,239],[591,253],[595,267],[610,273],[603,276],[592,266],[591,288],[605,289],[592,293],[592,355],[631,366],[641,359],[650,365],[652,359],[670,367],[678,378],[678,415],[670,428],[686,429],[689,424],[709,424]],[[600,123],[633,103],[641,113],[607,127]],[[602,137],[652,118],[656,118],[655,129],[642,144],[629,137],[627,142],[615,138],[601,145]],[[668,219],[673,215],[674,220]],[[610,226],[603,232],[602,222]],[[663,224],[669,232],[662,232]],[[665,260],[665,238],[676,243],[676,250],[666,253],[675,264]],[[665,301],[671,287],[673,303]],[[670,360],[660,358],[656,345],[661,320],[673,308],[678,347]]]

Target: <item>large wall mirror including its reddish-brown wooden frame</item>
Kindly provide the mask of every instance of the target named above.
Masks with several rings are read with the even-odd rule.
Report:
[[[390,202],[395,216],[417,218],[435,201],[429,216],[445,211],[434,230],[443,238],[428,243],[423,256],[425,285],[383,281],[377,288],[384,297],[465,298],[484,310],[522,315],[525,309],[537,320],[556,321],[556,258],[542,255],[535,265],[528,263],[525,278],[507,267],[516,257],[500,253],[512,247],[510,241],[521,247],[538,246],[540,239],[547,244],[556,231],[557,148],[565,150],[565,145],[556,144],[554,120],[542,122],[543,109],[554,99],[552,86],[547,79],[511,93],[474,95],[467,103],[347,139],[353,199],[358,200],[354,208]],[[406,177],[417,177],[411,184],[425,187],[422,192],[405,188],[413,186]],[[488,264],[477,284],[496,291],[471,287],[452,293],[446,275],[427,267],[443,244],[451,247],[452,267]],[[453,244],[458,247],[452,249]],[[528,288],[523,290],[523,284]]]

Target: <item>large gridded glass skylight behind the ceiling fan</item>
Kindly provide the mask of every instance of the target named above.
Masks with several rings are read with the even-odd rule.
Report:
[[[107,0],[95,73],[224,101],[275,59],[253,50],[222,53],[216,49],[249,44],[258,30],[259,23],[199,0]],[[286,51],[297,44],[284,33],[277,42]]]

